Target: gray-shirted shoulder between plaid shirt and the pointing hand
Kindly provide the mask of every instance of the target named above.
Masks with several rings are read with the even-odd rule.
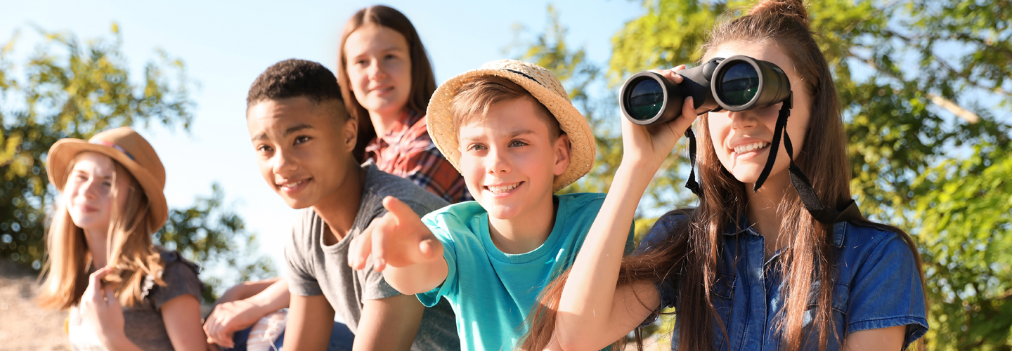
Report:
[[[424,214],[447,204],[445,200],[418,186],[414,182],[381,171],[368,165],[364,191],[381,200],[393,196],[411,206],[415,212]]]

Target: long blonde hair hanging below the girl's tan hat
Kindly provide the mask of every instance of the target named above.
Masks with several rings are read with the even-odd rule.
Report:
[[[74,169],[83,154],[74,158],[67,168],[68,173]],[[151,216],[147,215],[151,204],[137,179],[118,162],[112,160],[112,163],[115,165],[115,172],[112,174],[109,196],[116,198],[119,191],[128,191],[128,195],[126,204],[122,208],[119,208],[117,201],[112,201],[109,232],[106,235],[106,265],[115,269],[103,280],[114,286],[120,304],[133,306],[144,299],[144,280],[147,275],[153,276],[158,285],[165,285],[161,279],[164,263],[151,241],[151,235],[161,224],[153,223]],[[118,177],[128,177],[131,185],[126,189],[119,189],[116,186]],[[46,245],[47,261],[43,268],[45,280],[35,302],[53,310],[77,305],[88,287],[88,270],[94,259],[88,251],[84,230],[74,225],[67,210],[67,203],[57,205]]]

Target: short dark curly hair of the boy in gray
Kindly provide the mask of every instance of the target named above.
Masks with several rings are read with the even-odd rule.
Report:
[[[319,104],[337,101],[343,109],[341,87],[334,73],[319,63],[288,59],[268,67],[250,86],[246,108],[265,100],[305,96]]]

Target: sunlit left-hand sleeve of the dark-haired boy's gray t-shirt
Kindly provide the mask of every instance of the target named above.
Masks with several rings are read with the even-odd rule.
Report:
[[[322,295],[320,282],[313,275],[310,257],[313,253],[308,243],[312,242],[312,215],[304,210],[299,221],[291,228],[288,244],[284,246],[284,261],[288,271],[288,291],[300,296]]]

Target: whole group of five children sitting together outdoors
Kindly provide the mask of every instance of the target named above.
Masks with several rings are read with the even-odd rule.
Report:
[[[71,310],[81,350],[599,350],[669,308],[674,349],[895,350],[922,336],[909,236],[862,217],[820,223],[790,189],[792,159],[823,203],[851,197],[835,88],[800,1],[765,0],[702,50],[772,62],[790,80],[793,155],[777,153],[761,189],[780,103],[622,120],[611,190],[557,194],[596,157],[558,78],[502,60],[436,88],[410,21],[362,9],[336,77],[287,60],[249,90],[261,175],[302,209],[285,277],[229,289],[201,323],[195,265],[152,245],[164,168],[123,127],[51,149],[63,195],[38,300]],[[657,72],[678,83],[683,68]],[[662,216],[635,248],[640,198],[693,122],[699,205]]]

